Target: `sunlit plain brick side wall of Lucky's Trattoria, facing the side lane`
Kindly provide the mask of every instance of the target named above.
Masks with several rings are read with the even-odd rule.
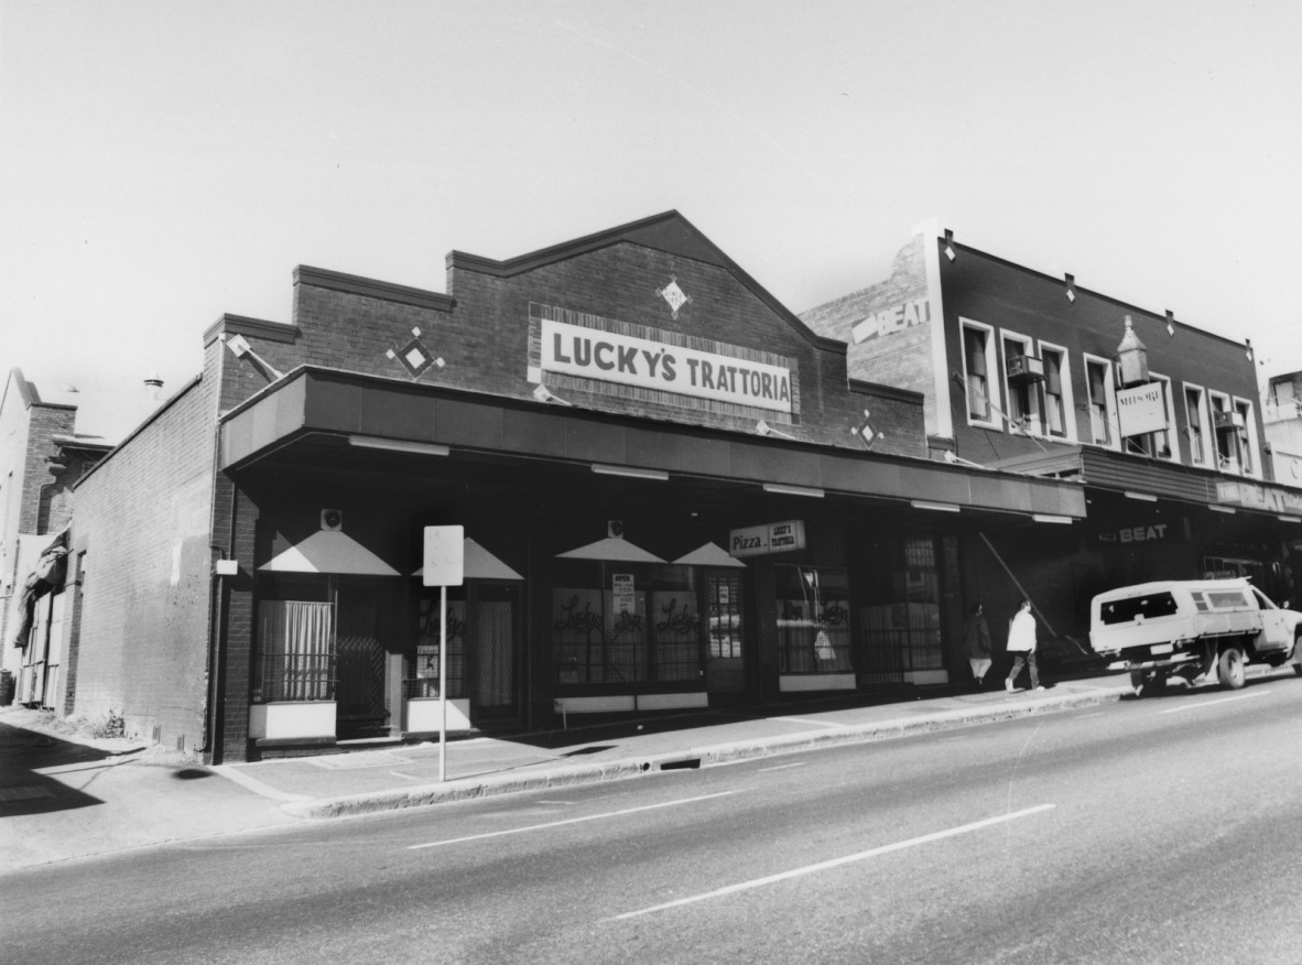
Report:
[[[72,712],[121,714],[169,748],[203,740],[215,404],[195,380],[77,490],[85,550]]]

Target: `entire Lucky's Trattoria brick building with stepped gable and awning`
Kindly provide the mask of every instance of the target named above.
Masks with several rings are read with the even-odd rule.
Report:
[[[78,487],[76,708],[242,759],[427,734],[444,684],[465,729],[962,675],[965,534],[1083,490],[935,458],[846,362],[676,212],[445,293],[299,267]]]

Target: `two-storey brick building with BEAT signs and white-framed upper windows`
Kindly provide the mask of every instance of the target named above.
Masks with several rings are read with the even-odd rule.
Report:
[[[848,344],[850,378],[923,397],[932,452],[1085,486],[1083,521],[962,539],[963,585],[988,611],[1025,593],[1048,636],[1083,643],[1091,596],[1113,586],[1251,576],[1295,596],[1302,490],[1273,481],[1264,458],[1249,344],[932,225],[889,279],[802,319]]]

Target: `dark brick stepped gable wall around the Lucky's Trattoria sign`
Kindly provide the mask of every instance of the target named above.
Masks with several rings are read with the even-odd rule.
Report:
[[[456,262],[456,259],[454,259]],[[678,318],[656,293],[671,279],[691,297]],[[924,456],[921,401],[909,392],[855,383],[845,352],[825,343],[792,315],[776,310],[724,266],[618,241],[573,258],[506,273],[478,270],[473,259],[452,267],[447,296],[383,285],[365,279],[301,268],[294,292],[293,339],[246,332],[256,354],[279,371],[316,365],[409,380],[391,353],[413,339],[443,367],[418,382],[529,399],[530,305],[598,315],[685,339],[772,353],[790,359],[798,374],[799,410],[788,421],[759,408],[685,408],[647,399],[646,392],[568,376],[547,384],[583,408],[702,425],[751,434],[764,419],[797,439],[862,449],[854,430],[870,422],[884,435],[875,449]],[[418,332],[419,335],[415,335]],[[241,359],[240,389],[247,396],[266,384],[251,361]]]

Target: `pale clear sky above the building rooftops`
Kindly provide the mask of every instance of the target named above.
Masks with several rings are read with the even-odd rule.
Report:
[[[676,208],[793,311],[957,241],[1302,370],[1297,0],[0,0],[0,372]],[[1118,339],[1121,323],[1118,320]]]

